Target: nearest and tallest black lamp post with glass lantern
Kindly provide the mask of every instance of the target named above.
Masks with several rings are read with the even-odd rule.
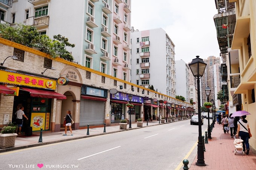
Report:
[[[196,165],[206,166],[204,163],[204,148],[203,148],[203,138],[202,138],[202,125],[201,125],[201,103],[200,103],[200,78],[204,75],[204,70],[206,68],[206,63],[199,56],[193,59],[189,63],[189,68],[192,74],[197,79],[197,103],[198,103],[198,144],[197,144],[197,162]]]

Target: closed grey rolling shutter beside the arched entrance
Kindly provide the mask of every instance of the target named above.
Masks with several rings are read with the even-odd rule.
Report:
[[[105,102],[81,99],[79,127],[91,125],[104,125]]]

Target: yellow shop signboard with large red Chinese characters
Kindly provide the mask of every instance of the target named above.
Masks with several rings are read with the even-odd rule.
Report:
[[[44,89],[56,89],[56,80],[0,70],[0,82]]]

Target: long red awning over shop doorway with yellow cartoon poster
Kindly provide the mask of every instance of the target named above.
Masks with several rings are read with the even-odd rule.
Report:
[[[66,96],[56,93],[54,91],[30,89],[30,88],[26,88],[26,87],[20,87],[20,89],[29,92],[30,96],[32,96],[32,97],[54,98],[54,99],[66,99],[67,98]]]

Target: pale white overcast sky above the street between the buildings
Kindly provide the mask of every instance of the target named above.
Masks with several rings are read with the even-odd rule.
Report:
[[[134,30],[162,28],[175,45],[175,60],[186,63],[219,57],[215,14],[215,0],[131,0]]]

